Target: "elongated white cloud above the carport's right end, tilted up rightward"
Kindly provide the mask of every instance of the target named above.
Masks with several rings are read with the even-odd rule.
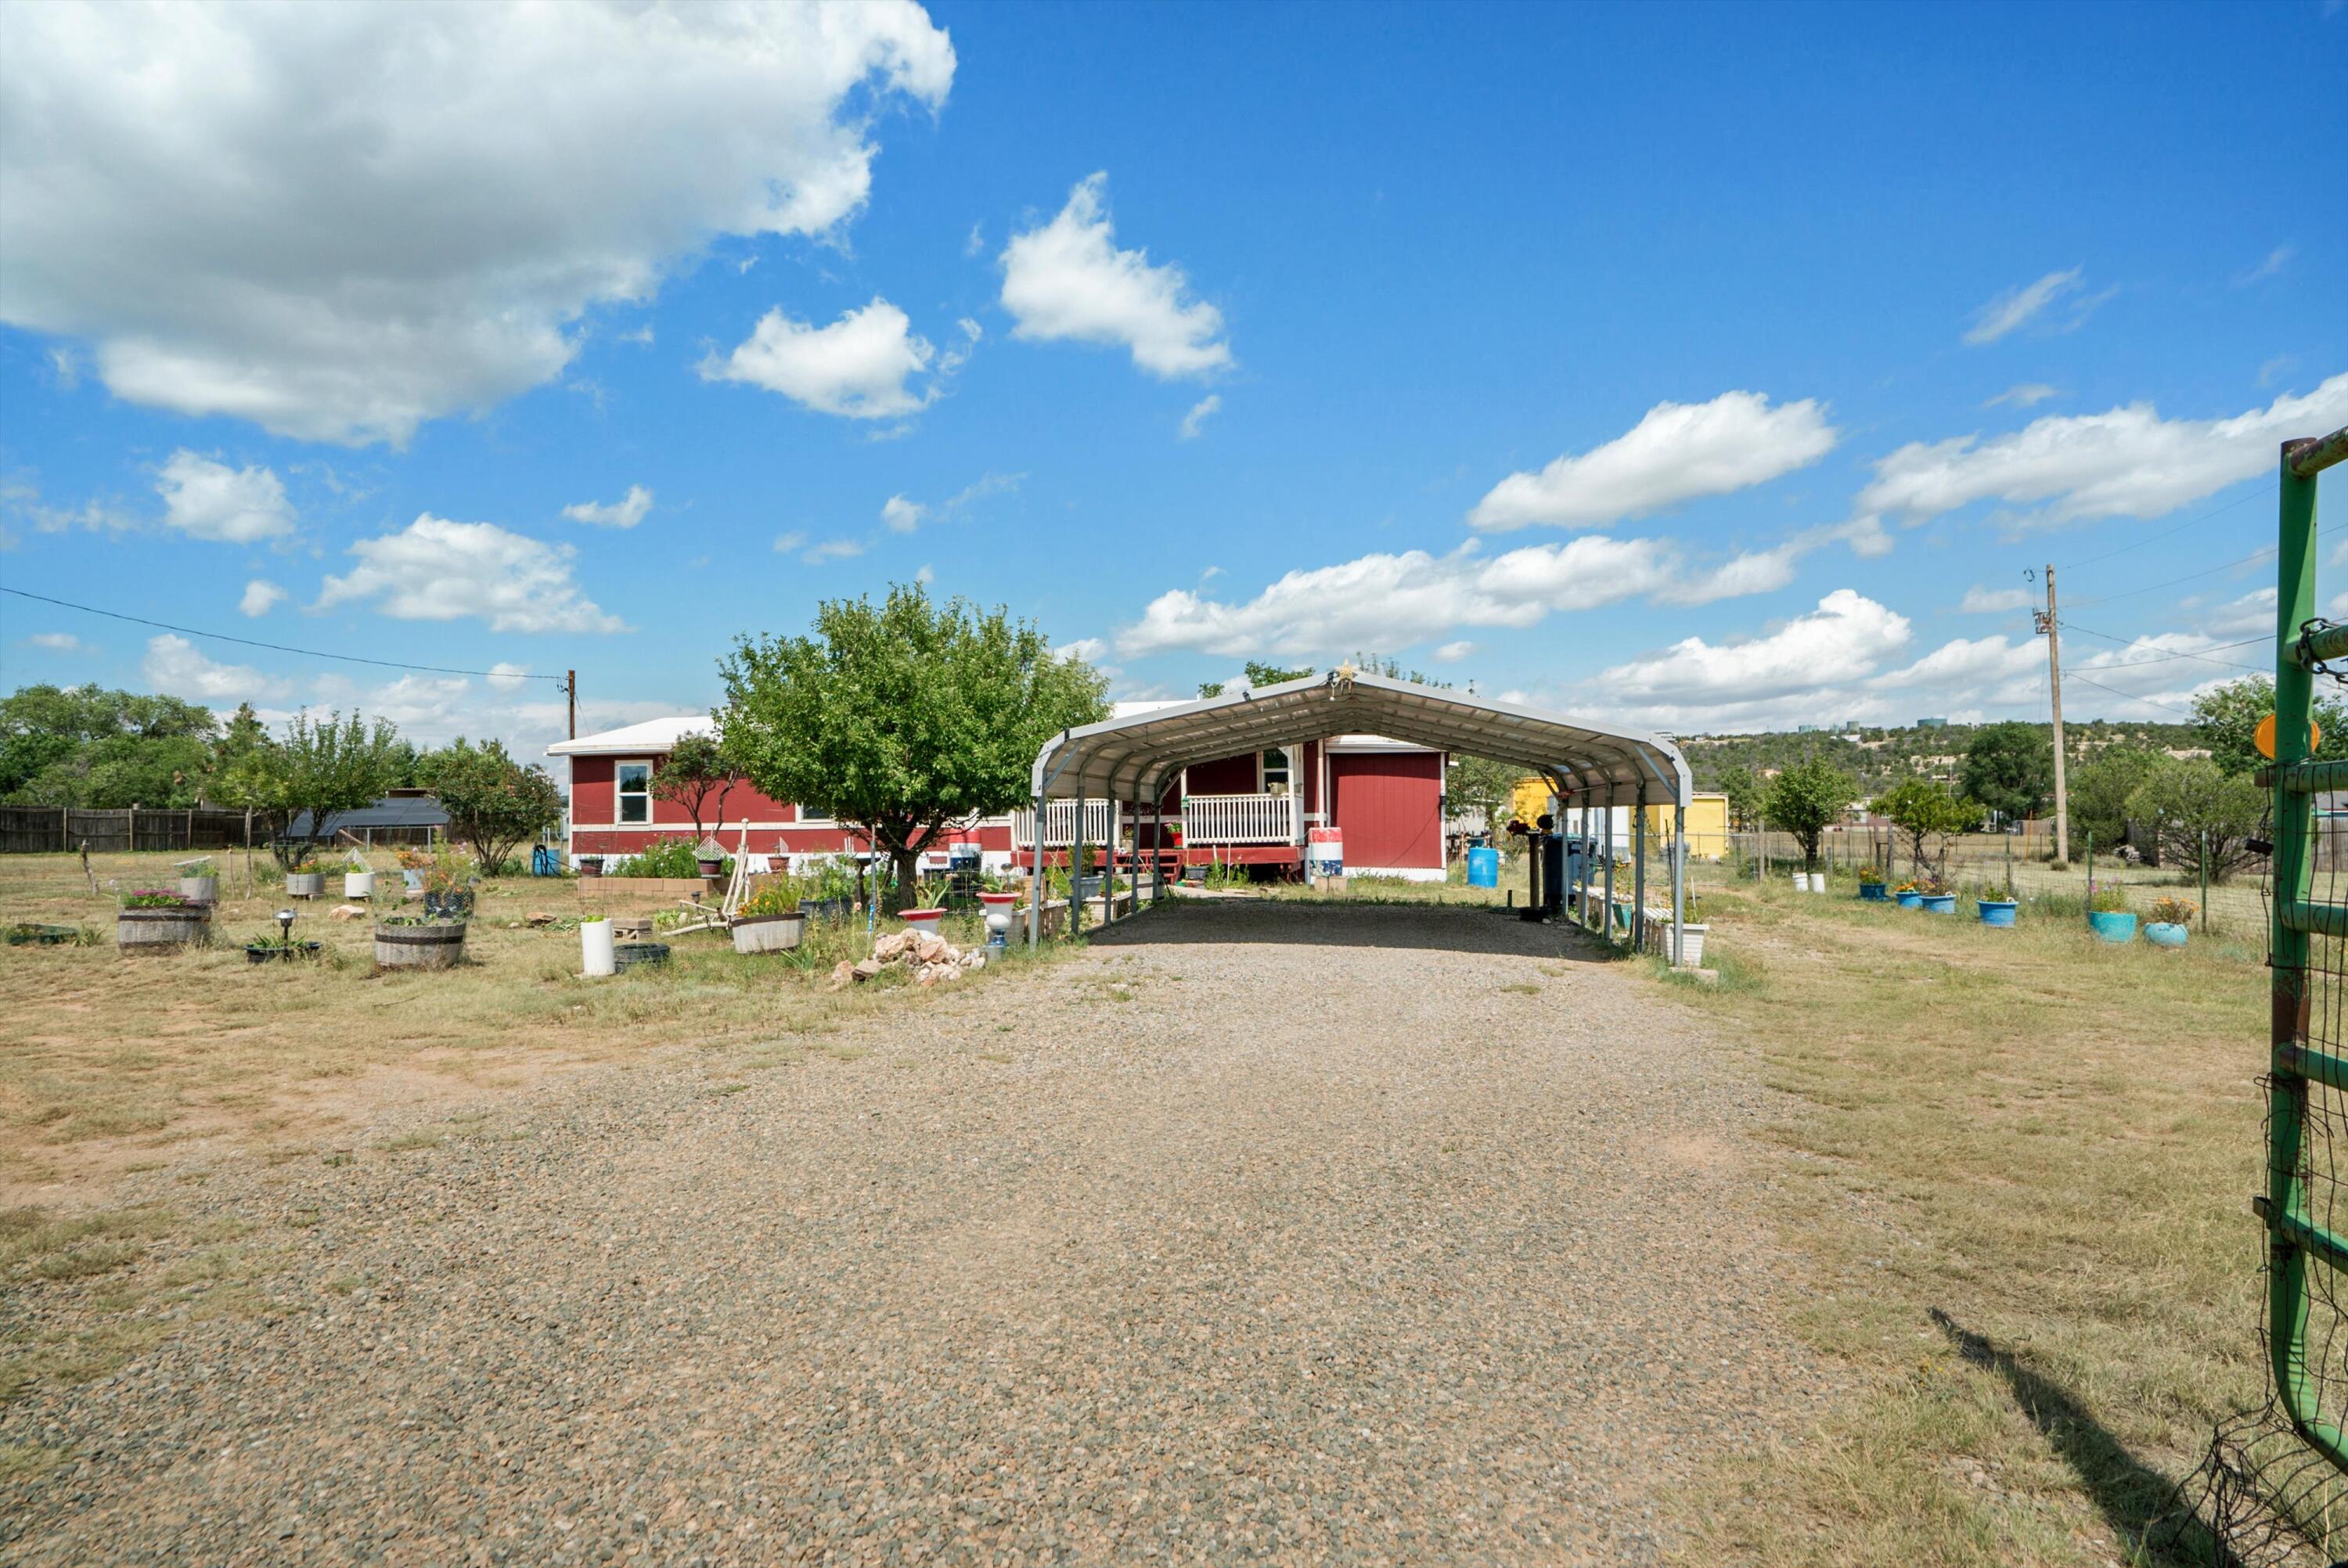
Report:
[[[1721,392],[1709,404],[1655,404],[1604,446],[1566,453],[1538,474],[1510,474],[1477,502],[1468,526],[1599,528],[1777,479],[1824,458],[1834,439],[1827,411],[1808,397],[1777,408],[1761,392]]]

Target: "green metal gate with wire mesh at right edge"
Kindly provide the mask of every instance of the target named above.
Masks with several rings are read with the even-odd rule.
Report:
[[[2275,749],[2259,777],[2273,789],[2273,1063],[2266,1101],[2266,1340],[2275,1394],[2292,1427],[2348,1472],[2348,1216],[2334,1141],[2348,1138],[2348,1042],[2341,1002],[2348,904],[2315,897],[2315,796],[2348,791],[2348,763],[2310,761],[2315,674],[2348,660],[2348,627],[2315,615],[2315,477],[2348,458],[2348,430],[2282,444],[2275,561]],[[2327,845],[2329,850],[2329,845]],[[2329,854],[2327,854],[2329,859]],[[2317,1164],[2320,1157],[2320,1164]]]

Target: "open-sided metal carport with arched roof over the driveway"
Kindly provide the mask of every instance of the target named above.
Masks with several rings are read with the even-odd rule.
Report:
[[[1148,800],[1158,810],[1165,782],[1190,763],[1207,763],[1240,751],[1291,746],[1329,735],[1385,735],[1442,751],[1465,751],[1526,772],[1554,779],[1559,798],[1571,805],[1639,805],[1632,815],[1634,843],[1634,939],[1646,922],[1646,810],[1672,805],[1672,962],[1679,962],[1679,937],[1686,922],[1686,810],[1688,761],[1660,735],[1611,730],[1585,718],[1568,718],[1514,702],[1496,702],[1439,685],[1392,681],[1385,676],[1334,669],[1284,685],[1242,690],[1228,697],[1205,697],[1176,707],[1151,709],[1127,718],[1061,730],[1028,775],[1038,819],[1045,800],[1082,800],[1106,796],[1115,807],[1111,822],[1111,869],[1115,833],[1125,803]],[[1613,812],[1606,812],[1606,908],[1613,908]],[[1153,857],[1155,876],[1155,857]],[[1139,866],[1136,866],[1139,869]],[[1043,937],[1043,833],[1035,836],[1035,894],[1028,899],[1028,946]],[[1587,880],[1587,876],[1585,876]],[[1611,913],[1608,913],[1611,918]]]

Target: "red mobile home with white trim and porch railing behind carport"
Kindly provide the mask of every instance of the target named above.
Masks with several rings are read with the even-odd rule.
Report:
[[[1118,716],[1167,707],[1120,702]],[[679,737],[709,732],[709,716],[653,718],[648,723],[556,742],[549,756],[571,763],[571,854],[634,854],[660,838],[693,833],[693,817],[653,796],[669,749]],[[1444,753],[1376,735],[1334,735],[1327,742],[1273,746],[1261,753],[1193,763],[1167,782],[1160,798],[1162,826],[1155,850],[1169,871],[1195,864],[1301,866],[1305,833],[1336,826],[1343,836],[1345,871],[1442,880],[1444,876]],[[768,800],[747,782],[735,782],[714,829],[733,850],[749,833],[749,854],[810,857],[864,850],[864,840],[836,822],[810,817],[784,800]],[[707,819],[704,819],[704,826]],[[1054,800],[1045,812],[1045,859],[1066,859],[1075,838],[1075,800]],[[1108,800],[1085,803],[1087,845],[1108,840]],[[1125,805],[1118,822],[1122,857],[1146,859],[1153,817]],[[991,871],[1026,864],[1035,850],[1035,812],[949,829],[927,847],[932,866],[949,845],[977,845]],[[758,861],[754,861],[756,866]]]

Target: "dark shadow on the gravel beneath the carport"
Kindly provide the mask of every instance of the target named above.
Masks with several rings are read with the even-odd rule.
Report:
[[[1437,953],[1505,953],[1561,962],[1615,962],[1580,927],[1531,925],[1517,911],[1475,904],[1338,904],[1296,899],[1167,899],[1106,932],[1089,932],[1097,948],[1158,948],[1186,944],[1268,944],[1315,948],[1423,948]]]

